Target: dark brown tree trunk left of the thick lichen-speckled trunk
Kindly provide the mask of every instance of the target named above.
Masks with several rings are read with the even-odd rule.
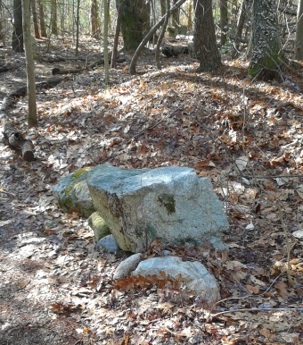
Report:
[[[195,1],[193,49],[200,61],[200,72],[216,71],[221,66],[221,56],[215,36],[212,0]]]

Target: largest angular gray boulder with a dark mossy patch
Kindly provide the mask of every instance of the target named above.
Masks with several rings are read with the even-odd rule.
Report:
[[[96,168],[86,180],[89,193],[119,248],[138,253],[156,238],[182,245],[210,241],[225,248],[220,233],[228,223],[209,179],[176,166]]]

